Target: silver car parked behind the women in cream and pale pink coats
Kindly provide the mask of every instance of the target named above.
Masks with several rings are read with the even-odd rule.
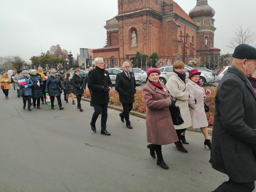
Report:
[[[187,82],[189,77],[188,73],[194,68],[187,65],[185,65],[184,68],[185,68],[184,72],[186,73],[186,82]],[[166,82],[168,81],[168,79],[172,74],[172,65],[160,66],[158,67],[158,69],[161,71],[161,75],[159,75],[159,81],[166,84]],[[201,75],[200,75],[199,81],[201,82],[201,86],[205,86],[205,84],[212,84],[214,82],[214,77],[211,72],[206,72],[206,71],[200,71],[200,72],[201,72]]]

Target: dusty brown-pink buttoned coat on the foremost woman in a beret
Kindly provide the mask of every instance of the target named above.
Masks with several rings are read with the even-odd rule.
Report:
[[[165,85],[162,86],[163,91],[148,81],[142,90],[146,104],[147,142],[155,145],[167,145],[179,140],[169,111],[171,95]]]

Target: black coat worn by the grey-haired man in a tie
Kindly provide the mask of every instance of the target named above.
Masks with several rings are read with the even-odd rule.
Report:
[[[136,93],[136,81],[133,72],[129,72],[130,79],[124,73],[119,73],[116,76],[115,90],[119,95],[121,103],[134,103],[134,94]]]

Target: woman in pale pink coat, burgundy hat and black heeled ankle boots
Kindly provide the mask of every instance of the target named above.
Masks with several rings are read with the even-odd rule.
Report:
[[[205,137],[204,146],[207,145],[210,149],[212,149],[211,140],[207,130],[208,121],[203,103],[204,99],[206,99],[206,95],[205,90],[199,81],[200,74],[201,72],[199,72],[197,69],[192,69],[189,72],[189,80],[187,82],[187,93],[190,95],[188,98],[188,107],[192,120],[192,128],[200,128]]]

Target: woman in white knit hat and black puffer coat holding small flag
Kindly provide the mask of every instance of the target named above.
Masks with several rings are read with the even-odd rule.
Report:
[[[42,91],[42,86],[43,86],[43,81],[40,76],[36,74],[36,70],[33,69],[31,71],[30,78],[33,82],[32,86],[32,100],[33,100],[33,107],[35,108],[35,102],[37,101],[37,108],[40,108],[40,98],[43,97],[43,91]]]

